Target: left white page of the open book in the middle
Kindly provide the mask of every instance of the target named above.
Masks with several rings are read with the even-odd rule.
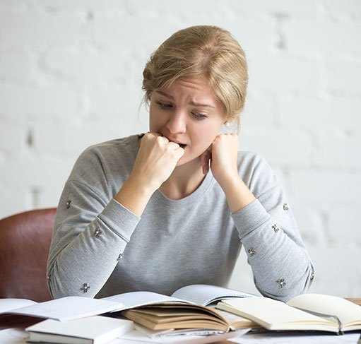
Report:
[[[156,292],[124,292],[124,294],[102,297],[102,300],[111,302],[121,302],[122,307],[114,309],[112,312],[123,311],[125,309],[146,306],[148,304],[158,304],[163,302],[183,302],[191,303],[185,299],[177,299],[167,295],[158,294]]]

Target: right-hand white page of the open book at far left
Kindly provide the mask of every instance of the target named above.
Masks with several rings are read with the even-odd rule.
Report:
[[[101,299],[69,296],[18,308],[7,313],[66,321],[110,312],[122,306],[123,304],[119,305],[119,303],[102,301]]]

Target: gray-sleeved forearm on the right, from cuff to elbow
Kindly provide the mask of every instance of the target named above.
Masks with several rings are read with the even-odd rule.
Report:
[[[258,200],[232,216],[262,295],[288,301],[306,292],[313,268],[302,241],[292,235],[292,221],[283,227],[287,219],[281,225]]]

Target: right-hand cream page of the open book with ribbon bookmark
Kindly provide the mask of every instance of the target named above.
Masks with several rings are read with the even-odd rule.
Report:
[[[336,315],[342,324],[347,324],[350,321],[360,321],[361,324],[361,306],[342,297],[303,294],[293,297],[287,304],[312,312]]]

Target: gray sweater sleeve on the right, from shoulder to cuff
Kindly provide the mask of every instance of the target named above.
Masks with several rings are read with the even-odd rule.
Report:
[[[233,213],[232,218],[257,290],[287,302],[307,292],[314,267],[278,179],[264,158],[256,155],[256,160],[246,182],[256,200]]]

